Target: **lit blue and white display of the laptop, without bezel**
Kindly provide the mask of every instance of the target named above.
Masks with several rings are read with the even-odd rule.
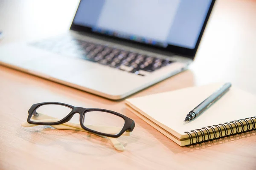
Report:
[[[81,0],[73,23],[166,48],[194,49],[212,0]]]

